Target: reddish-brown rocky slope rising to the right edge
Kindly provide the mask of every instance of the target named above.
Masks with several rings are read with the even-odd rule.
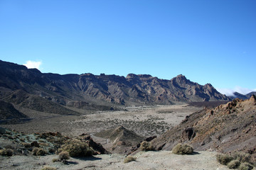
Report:
[[[158,149],[170,150],[178,142],[195,149],[220,152],[242,151],[256,160],[256,97],[235,100],[193,113],[183,122],[153,140]]]

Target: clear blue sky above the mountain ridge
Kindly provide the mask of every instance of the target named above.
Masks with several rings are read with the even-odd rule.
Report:
[[[0,0],[0,60],[256,91],[256,1]]]

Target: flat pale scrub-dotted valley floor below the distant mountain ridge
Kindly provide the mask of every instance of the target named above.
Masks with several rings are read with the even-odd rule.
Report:
[[[61,132],[63,135],[77,136],[92,134],[123,125],[138,135],[149,137],[161,135],[174,125],[181,123],[186,115],[202,108],[188,104],[171,106],[141,106],[124,108],[126,111],[98,111],[85,115],[50,115],[35,112],[33,120],[16,125],[1,125],[3,128],[19,132]],[[24,112],[26,113],[26,112]],[[31,116],[31,115],[30,115]]]

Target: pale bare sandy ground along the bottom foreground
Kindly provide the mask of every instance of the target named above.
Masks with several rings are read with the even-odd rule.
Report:
[[[63,170],[82,169],[175,169],[175,170],[227,170],[227,166],[218,164],[215,152],[198,152],[193,155],[176,155],[170,151],[161,152],[139,152],[135,155],[136,162],[124,164],[124,155],[105,154],[95,157],[69,160],[70,164],[62,162],[53,163],[51,160],[56,155],[44,157],[14,156],[2,159],[0,169],[42,169],[43,166],[51,166]]]

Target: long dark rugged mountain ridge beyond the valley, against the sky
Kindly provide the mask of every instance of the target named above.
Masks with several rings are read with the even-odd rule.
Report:
[[[16,103],[19,99],[11,100],[9,96],[17,90],[33,95],[28,96],[27,103],[23,101],[23,105],[29,108],[36,104],[33,100],[43,103],[47,100],[75,108],[104,106],[102,109],[112,109],[114,104],[129,106],[230,100],[210,84],[201,86],[183,75],[166,80],[147,74],[128,74],[127,77],[90,73],[43,74],[38,69],[27,69],[23,65],[0,60],[0,99]]]

